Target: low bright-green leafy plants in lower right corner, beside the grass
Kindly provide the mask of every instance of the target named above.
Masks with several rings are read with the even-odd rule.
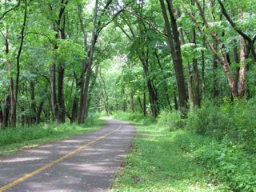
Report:
[[[228,183],[232,191],[256,191],[256,159],[234,142],[181,131],[175,138],[178,145],[206,166],[213,181]],[[227,190],[228,191],[228,190]]]

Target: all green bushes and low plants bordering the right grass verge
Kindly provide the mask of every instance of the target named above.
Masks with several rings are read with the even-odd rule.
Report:
[[[223,191],[255,191],[255,107],[254,100],[205,102],[182,119],[184,130],[176,112],[163,111],[158,125],[176,130],[177,145],[209,170],[211,182],[226,182]]]

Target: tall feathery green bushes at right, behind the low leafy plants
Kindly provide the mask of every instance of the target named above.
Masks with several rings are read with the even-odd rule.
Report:
[[[186,120],[186,130],[196,134],[210,135],[218,140],[229,138],[238,142],[250,153],[256,146],[256,103],[247,101],[224,101],[222,105],[206,102],[197,110],[191,110]]]

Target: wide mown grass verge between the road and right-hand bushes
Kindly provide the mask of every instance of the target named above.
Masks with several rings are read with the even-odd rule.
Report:
[[[112,191],[228,191],[210,178],[193,155],[181,149],[177,138],[182,130],[170,132],[157,123],[134,124],[137,136],[119,170]]]

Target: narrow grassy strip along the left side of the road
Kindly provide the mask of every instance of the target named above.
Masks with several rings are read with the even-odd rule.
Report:
[[[77,134],[84,134],[104,126],[106,121],[97,119],[84,125],[65,123],[40,124],[38,126],[17,127],[15,129],[0,130],[0,156],[14,154],[18,150],[42,145],[70,138]]]

